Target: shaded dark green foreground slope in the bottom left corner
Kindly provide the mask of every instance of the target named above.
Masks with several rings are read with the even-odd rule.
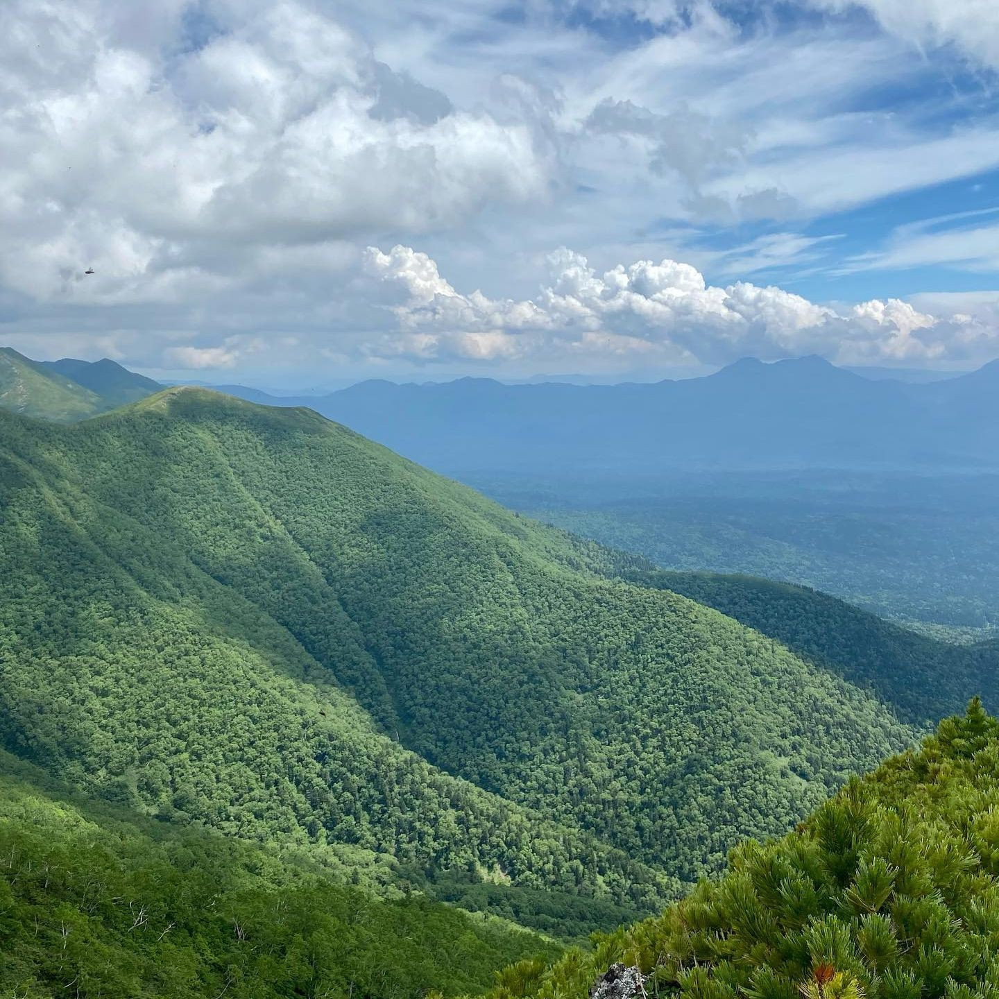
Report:
[[[480,991],[559,949],[306,856],[81,800],[0,753],[0,994],[146,999]]]

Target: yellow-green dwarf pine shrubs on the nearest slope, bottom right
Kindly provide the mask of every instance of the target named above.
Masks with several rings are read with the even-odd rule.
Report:
[[[997,813],[999,722],[975,702],[793,833],[733,850],[720,882],[590,953],[506,969],[491,999],[585,999],[611,968],[644,979],[603,993],[622,999],[993,997]]]

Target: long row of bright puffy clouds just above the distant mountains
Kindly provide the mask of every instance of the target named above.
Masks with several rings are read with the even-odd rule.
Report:
[[[967,315],[940,319],[897,299],[852,307],[817,305],[776,287],[708,285],[689,264],[644,260],[598,275],[567,249],[548,260],[550,277],[532,300],[465,295],[424,253],[369,248],[369,274],[397,286],[401,333],[389,350],[422,360],[522,357],[553,344],[566,353],[655,356],[724,364],[818,353],[834,361],[922,362],[985,358],[995,327]]]

